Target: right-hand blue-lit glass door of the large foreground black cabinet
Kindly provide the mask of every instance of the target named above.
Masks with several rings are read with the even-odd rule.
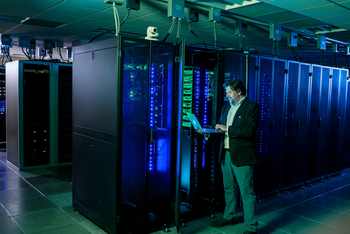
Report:
[[[172,215],[173,139],[173,58],[172,45],[153,44],[150,64],[148,145],[150,213],[166,220]]]

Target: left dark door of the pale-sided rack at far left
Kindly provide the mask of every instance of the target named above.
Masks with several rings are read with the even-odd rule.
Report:
[[[23,64],[23,167],[50,164],[50,65]]]

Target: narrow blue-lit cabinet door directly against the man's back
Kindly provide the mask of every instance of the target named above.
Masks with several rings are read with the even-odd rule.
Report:
[[[258,195],[268,192],[270,162],[270,126],[271,126],[271,83],[273,76],[273,60],[259,58],[258,103],[260,105],[260,123],[257,130],[256,149],[258,164],[255,168],[255,190]]]

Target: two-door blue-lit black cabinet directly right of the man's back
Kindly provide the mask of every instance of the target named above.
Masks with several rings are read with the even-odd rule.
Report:
[[[257,131],[255,172],[257,195],[277,191],[282,186],[282,149],[286,61],[259,57],[258,103],[260,123]]]

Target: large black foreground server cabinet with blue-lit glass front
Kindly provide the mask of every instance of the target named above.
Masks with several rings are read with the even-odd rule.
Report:
[[[73,207],[109,233],[173,218],[174,58],[122,37],[75,47]]]

